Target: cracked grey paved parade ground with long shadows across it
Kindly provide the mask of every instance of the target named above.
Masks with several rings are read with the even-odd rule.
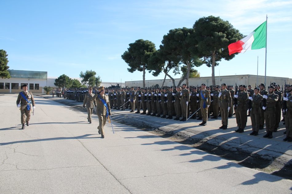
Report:
[[[17,95],[0,95],[0,193],[292,193],[289,175],[275,175],[289,171],[292,159],[283,129],[268,140],[264,132],[249,136],[251,129],[233,132],[235,118],[219,130],[220,120],[202,127],[114,110],[115,133],[107,123],[101,139],[97,116],[89,124],[80,102],[34,98],[22,130]],[[245,160],[258,157],[267,173],[240,165],[240,152]],[[239,159],[228,159],[232,154]]]

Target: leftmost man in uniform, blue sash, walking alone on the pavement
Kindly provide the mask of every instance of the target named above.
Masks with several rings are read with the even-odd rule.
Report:
[[[25,128],[25,123],[27,126],[29,126],[29,121],[30,121],[30,111],[31,111],[31,106],[30,102],[33,105],[33,108],[35,109],[35,103],[34,103],[34,96],[31,91],[27,90],[27,84],[22,85],[22,92],[18,94],[16,104],[17,107],[20,109],[20,120],[22,124],[22,128]]]

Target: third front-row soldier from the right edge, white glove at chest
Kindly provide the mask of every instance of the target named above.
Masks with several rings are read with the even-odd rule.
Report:
[[[259,88],[256,87],[254,89],[254,95],[248,97],[252,101],[251,108],[251,126],[252,132],[250,135],[257,136],[258,130],[260,126],[260,115],[261,115],[261,103],[262,103],[262,95],[259,94]]]

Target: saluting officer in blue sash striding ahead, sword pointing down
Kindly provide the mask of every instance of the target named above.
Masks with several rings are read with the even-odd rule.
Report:
[[[108,115],[111,115],[109,96],[105,95],[105,88],[101,86],[98,88],[98,92],[95,92],[93,98],[96,99],[96,113],[99,121],[99,126],[97,127],[98,133],[101,134],[101,138],[105,138],[103,128],[105,126]]]

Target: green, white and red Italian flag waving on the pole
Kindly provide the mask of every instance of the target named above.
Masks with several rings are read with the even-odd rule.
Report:
[[[267,22],[265,21],[248,36],[228,45],[229,55],[244,53],[247,50],[266,48],[266,25]]]

